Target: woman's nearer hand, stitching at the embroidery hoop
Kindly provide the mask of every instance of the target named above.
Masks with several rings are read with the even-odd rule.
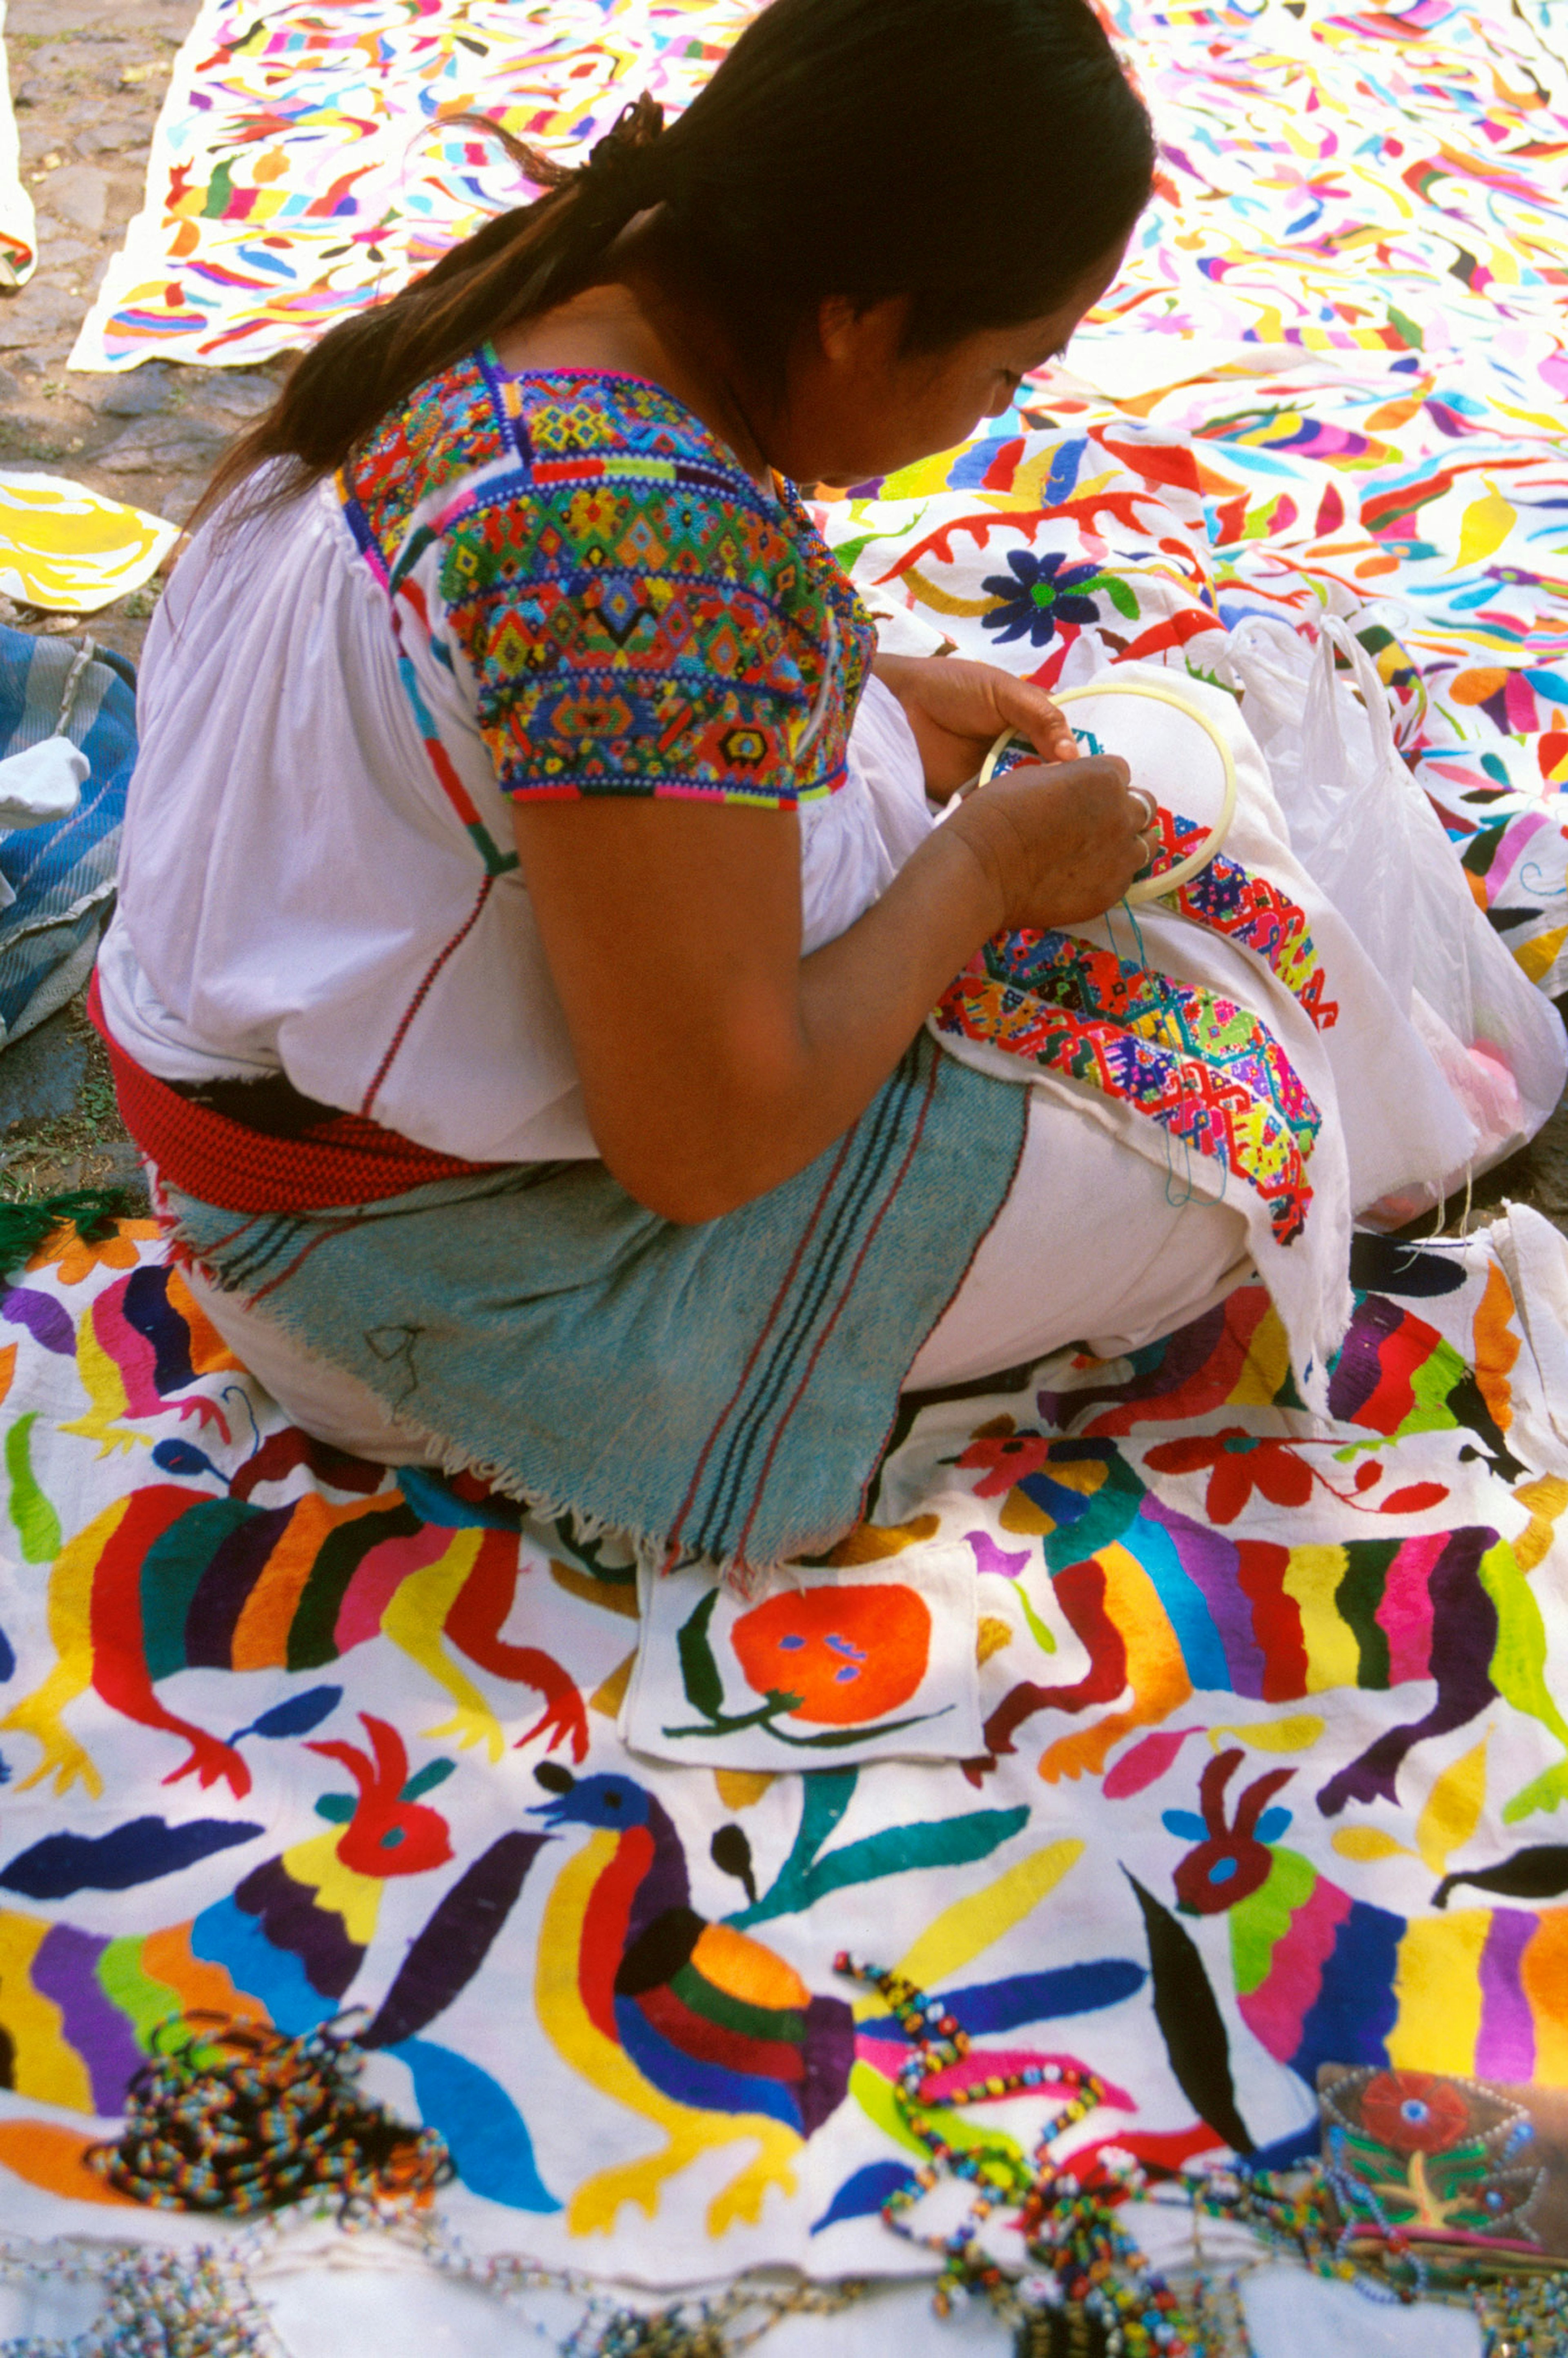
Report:
[[[997,931],[1087,924],[1148,865],[1148,804],[1118,755],[1021,762],[946,821],[993,880]]]

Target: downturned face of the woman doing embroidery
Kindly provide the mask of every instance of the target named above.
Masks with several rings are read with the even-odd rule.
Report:
[[[969,441],[1000,417],[1023,377],[1066,351],[1073,328],[1122,266],[1111,248],[1054,311],[1019,328],[983,328],[941,351],[901,351],[905,297],[856,314],[823,304],[816,340],[790,370],[785,417],[769,457],[797,483],[865,483]]]

